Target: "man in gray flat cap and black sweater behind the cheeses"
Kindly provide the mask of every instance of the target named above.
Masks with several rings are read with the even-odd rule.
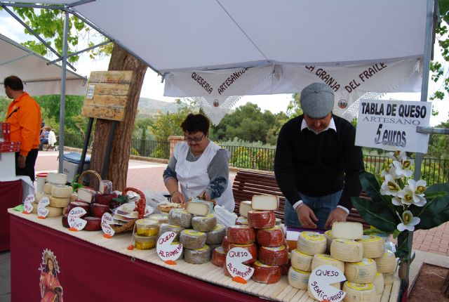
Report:
[[[330,228],[346,221],[358,196],[363,171],[361,147],[354,145],[356,129],[332,114],[334,93],[324,83],[301,91],[304,114],[290,119],[279,132],[274,173],[286,197],[287,226]]]

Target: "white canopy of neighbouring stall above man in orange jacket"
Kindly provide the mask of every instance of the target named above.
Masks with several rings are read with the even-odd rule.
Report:
[[[16,75],[22,79],[24,90],[31,96],[60,94],[61,66],[47,65],[50,60],[34,53],[25,46],[0,34],[0,84],[5,77]],[[66,93],[73,96],[86,94],[85,77],[68,72],[66,77]],[[0,96],[6,96],[0,89]]]

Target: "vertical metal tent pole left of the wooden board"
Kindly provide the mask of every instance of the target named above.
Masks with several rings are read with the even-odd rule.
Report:
[[[65,77],[67,72],[67,37],[69,34],[69,12],[65,11],[64,15],[64,47],[62,48],[61,102],[59,110],[59,173],[62,173],[62,162],[64,159]]]

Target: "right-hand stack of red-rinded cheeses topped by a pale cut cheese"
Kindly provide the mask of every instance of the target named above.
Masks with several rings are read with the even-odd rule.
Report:
[[[281,279],[283,265],[288,264],[288,248],[282,228],[276,225],[274,211],[279,199],[274,195],[255,195],[251,200],[252,211],[248,211],[248,225],[255,228],[259,245],[258,261],[253,265],[253,280],[265,284]]]

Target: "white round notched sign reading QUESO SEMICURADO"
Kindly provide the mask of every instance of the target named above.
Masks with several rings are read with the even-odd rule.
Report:
[[[309,291],[318,301],[342,301],[346,293],[330,284],[346,280],[344,274],[332,265],[315,268],[309,277]]]

